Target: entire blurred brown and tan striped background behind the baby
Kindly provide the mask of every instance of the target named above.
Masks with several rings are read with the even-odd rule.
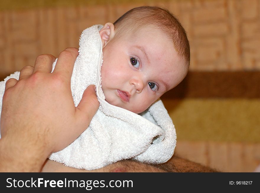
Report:
[[[40,54],[79,47],[81,32],[137,6],[171,11],[191,47],[187,77],[162,100],[175,154],[224,172],[260,164],[260,0],[0,1],[0,81]]]

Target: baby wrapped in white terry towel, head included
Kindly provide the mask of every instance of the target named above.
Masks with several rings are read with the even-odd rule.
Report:
[[[49,159],[88,170],[122,159],[155,164],[170,159],[176,132],[158,99],[183,80],[189,60],[183,27],[158,7],[137,7],[114,24],[85,29],[71,92],[77,105],[85,88],[95,84],[100,108],[89,127]]]

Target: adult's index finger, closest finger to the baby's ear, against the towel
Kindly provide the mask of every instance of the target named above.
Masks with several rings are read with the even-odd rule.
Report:
[[[71,79],[73,67],[77,56],[79,55],[77,48],[66,48],[58,56],[58,61],[56,63],[53,73],[58,73],[66,80]]]

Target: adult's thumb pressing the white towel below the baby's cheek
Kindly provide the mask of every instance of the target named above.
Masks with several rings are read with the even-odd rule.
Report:
[[[76,117],[79,126],[86,129],[99,107],[97,95],[95,93],[95,85],[89,85],[82,95],[82,99],[76,108]]]

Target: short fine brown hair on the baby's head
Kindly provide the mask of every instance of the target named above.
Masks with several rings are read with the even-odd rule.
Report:
[[[133,32],[139,27],[152,25],[161,30],[172,42],[179,56],[190,63],[190,47],[184,28],[170,11],[160,7],[144,6],[127,11],[114,23],[116,36]]]

